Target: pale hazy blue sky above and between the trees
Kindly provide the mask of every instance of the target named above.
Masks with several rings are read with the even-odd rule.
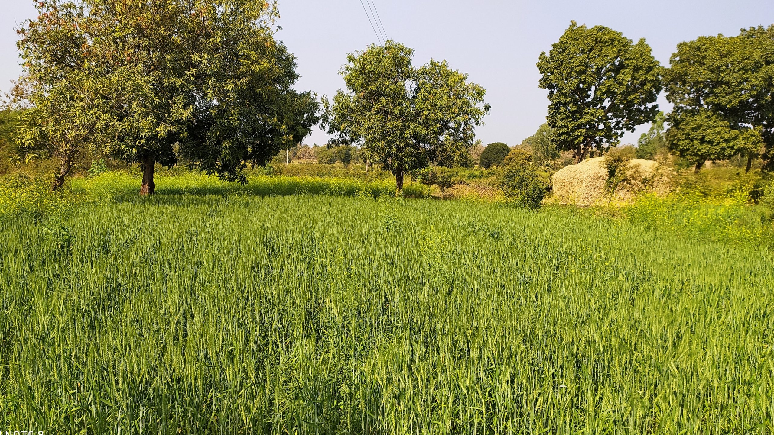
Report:
[[[478,138],[511,145],[531,135],[546,116],[548,100],[537,85],[535,63],[572,19],[611,27],[630,39],[646,38],[663,65],[681,41],[774,23],[772,0],[373,2],[387,36],[416,50],[416,65],[446,59],[487,89],[492,110]],[[0,91],[5,92],[20,72],[14,28],[35,11],[31,0],[0,0],[0,5]],[[298,57],[299,89],[334,94],[344,86],[337,73],[346,53],[376,42],[361,0],[280,0],[279,10],[283,30],[278,38]],[[659,102],[666,103],[664,98]],[[641,126],[623,142],[636,142],[646,130]],[[315,131],[306,142],[326,141],[323,132]]]

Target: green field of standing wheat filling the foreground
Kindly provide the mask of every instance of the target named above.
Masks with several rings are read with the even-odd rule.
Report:
[[[770,252],[553,209],[186,180],[0,224],[2,427],[774,430]],[[83,183],[103,182],[120,185]]]

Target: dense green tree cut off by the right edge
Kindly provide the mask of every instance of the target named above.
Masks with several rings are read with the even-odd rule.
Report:
[[[664,74],[670,147],[694,159],[752,160],[774,166],[774,26],[738,36],[701,36],[680,43]]]

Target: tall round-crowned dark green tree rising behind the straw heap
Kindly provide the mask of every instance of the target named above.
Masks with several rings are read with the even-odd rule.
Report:
[[[546,121],[576,163],[656,118],[661,67],[645,39],[572,22],[537,67],[550,100]]]

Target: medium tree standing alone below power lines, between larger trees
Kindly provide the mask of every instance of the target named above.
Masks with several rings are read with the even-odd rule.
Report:
[[[396,176],[467,154],[489,111],[485,90],[443,62],[415,68],[413,50],[394,41],[350,54],[341,70],[347,91],[326,101],[331,144],[359,145]],[[454,158],[450,158],[454,160]]]

